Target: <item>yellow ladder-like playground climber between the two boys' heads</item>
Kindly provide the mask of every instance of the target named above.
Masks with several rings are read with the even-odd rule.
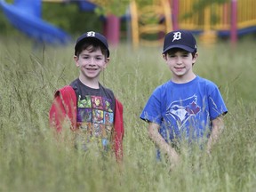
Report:
[[[171,6],[168,0],[155,0],[152,4],[139,7],[133,0],[131,4],[132,44],[158,45],[162,42],[161,33],[172,30]],[[157,38],[147,38],[155,34]],[[145,37],[146,36],[146,37]]]

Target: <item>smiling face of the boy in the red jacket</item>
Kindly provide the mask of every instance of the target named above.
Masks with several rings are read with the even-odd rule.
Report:
[[[98,81],[100,72],[107,67],[109,58],[100,51],[100,47],[96,50],[88,47],[78,56],[74,56],[74,60],[76,67],[80,68],[80,77]]]

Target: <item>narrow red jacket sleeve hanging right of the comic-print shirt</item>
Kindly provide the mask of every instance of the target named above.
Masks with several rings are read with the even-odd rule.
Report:
[[[123,139],[124,139],[124,119],[123,119],[123,105],[119,100],[115,101],[115,116],[114,116],[114,146],[116,153],[116,160],[123,160]]]

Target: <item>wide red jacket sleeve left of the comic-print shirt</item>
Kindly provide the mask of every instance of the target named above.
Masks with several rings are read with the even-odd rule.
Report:
[[[69,85],[64,86],[54,94],[54,100],[49,111],[49,122],[57,132],[61,132],[65,119],[71,124],[71,130],[76,129],[76,92]]]

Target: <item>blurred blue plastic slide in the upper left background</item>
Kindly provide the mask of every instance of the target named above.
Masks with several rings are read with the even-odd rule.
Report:
[[[0,0],[0,7],[15,28],[36,42],[68,44],[71,40],[66,32],[41,19],[41,0],[15,0],[13,4]]]

